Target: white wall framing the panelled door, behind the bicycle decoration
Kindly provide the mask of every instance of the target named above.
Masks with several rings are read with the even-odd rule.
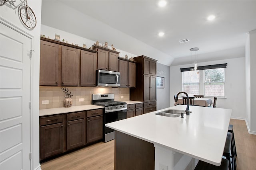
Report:
[[[19,4],[20,1],[15,2],[14,4]],[[31,169],[40,169],[39,164],[39,63],[40,63],[40,23],[41,23],[41,0],[29,0],[28,5],[34,11],[37,25],[34,29],[27,29],[18,16],[18,9],[14,9],[10,6],[9,3],[6,3],[4,6],[0,7],[0,18],[1,20],[6,21],[8,24],[13,25],[20,31],[26,32],[27,34],[32,35],[32,47],[31,49],[34,50],[32,54],[32,94],[31,94],[31,101],[32,101],[32,117],[31,120],[26,120],[27,123],[30,123],[31,126],[31,140],[32,145],[31,150],[32,152],[32,162],[31,162]],[[15,49],[14,49],[15,50]],[[28,86],[30,82],[28,82]],[[27,94],[28,96],[30,94]],[[29,133],[29,132],[28,132]],[[8,140],[8,139],[6,139]],[[15,163],[15,162],[14,162]]]

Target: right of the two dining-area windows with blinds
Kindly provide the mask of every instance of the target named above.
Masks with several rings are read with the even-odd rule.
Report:
[[[204,96],[224,97],[225,68],[204,70]]]

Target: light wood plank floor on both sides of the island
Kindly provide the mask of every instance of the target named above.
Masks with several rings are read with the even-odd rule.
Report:
[[[256,170],[256,135],[248,133],[243,120],[231,119],[233,125],[237,170]],[[114,170],[114,140],[86,148],[41,164],[42,170]]]

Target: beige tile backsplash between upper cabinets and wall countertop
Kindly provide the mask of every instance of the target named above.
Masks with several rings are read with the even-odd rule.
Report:
[[[72,106],[92,104],[92,94],[114,93],[116,101],[130,100],[129,88],[111,88],[111,87],[67,87],[73,94]],[[40,86],[39,88],[39,109],[50,109],[64,107],[65,94],[60,87]],[[121,96],[123,98],[121,98]],[[83,98],[84,102],[79,102]],[[49,104],[42,104],[43,100],[48,100]]]

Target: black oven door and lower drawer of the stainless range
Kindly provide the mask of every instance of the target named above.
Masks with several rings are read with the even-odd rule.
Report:
[[[127,109],[104,113],[104,142],[108,142],[115,139],[114,129],[110,129],[109,127],[106,127],[105,124],[126,119],[126,118],[127,118]]]

